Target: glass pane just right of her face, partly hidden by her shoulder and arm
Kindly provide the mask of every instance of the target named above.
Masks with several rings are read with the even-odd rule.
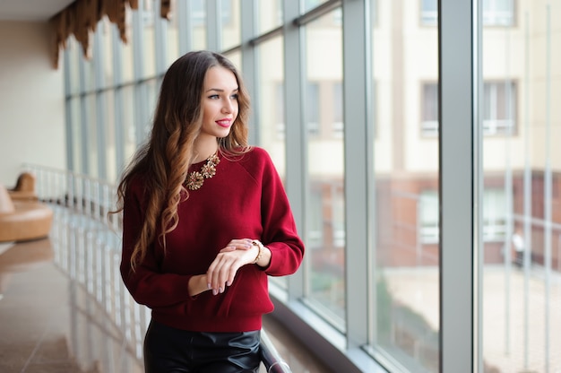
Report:
[[[280,174],[286,176],[286,140],[284,126],[284,65],[282,38],[270,39],[257,47],[259,81],[258,143],[269,154]],[[286,277],[271,277],[270,281],[286,288]]]

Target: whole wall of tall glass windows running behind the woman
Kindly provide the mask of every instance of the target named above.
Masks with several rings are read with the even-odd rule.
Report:
[[[353,6],[358,2],[342,2],[343,9],[326,3],[256,2],[255,14],[244,14],[253,6],[220,0],[215,3],[220,20],[211,22],[220,28],[212,37],[221,40],[220,49],[231,51],[235,65],[241,68],[247,61],[244,54],[253,54],[249,65],[255,62],[255,69],[244,72],[254,105],[256,138],[251,140],[271,154],[289,193],[302,204],[294,207],[306,241],[304,265],[294,277],[275,278],[272,283],[291,300],[285,304],[289,310],[294,304],[306,309],[305,315],[295,317],[308,322],[311,315],[310,329],[318,332],[314,336],[321,335],[341,354],[348,352],[345,342],[350,345],[358,339],[366,343],[361,347],[368,361],[381,362],[389,371],[437,372],[440,356],[450,351],[439,345],[447,329],[445,323],[440,325],[439,282],[444,275],[440,253],[445,249],[440,238],[446,226],[439,216],[445,208],[439,200],[443,196],[439,173],[444,172],[439,169],[439,129],[444,128],[439,128],[439,113],[444,113],[446,101],[438,96],[439,82],[445,82],[438,75],[443,62],[438,59],[438,2],[369,0],[372,19],[367,24],[372,29],[364,32],[370,33],[371,65],[352,76],[343,76],[343,60],[355,61],[358,56],[350,52],[356,49],[343,48],[342,30],[357,31],[358,26],[345,29],[344,21],[349,14],[345,12],[356,11]],[[73,39],[68,42],[66,128],[73,171],[117,178],[121,162],[130,159],[150,131],[161,79],[156,61],[167,67],[177,58],[179,45],[204,49],[209,44],[207,21],[215,21],[209,17],[217,14],[207,14],[207,8],[214,6],[204,0],[172,1],[170,21],[163,27],[167,31],[155,32],[160,26],[155,22],[156,4],[140,0],[138,11],[127,7],[127,43],[120,41],[115,25],[108,28],[107,21],[99,25],[96,32],[104,33],[98,36],[99,44],[91,40],[88,53],[95,58],[92,48],[99,48],[101,74],[94,59],[83,60],[80,45]],[[177,4],[184,6],[184,13],[176,16]],[[561,313],[561,147],[556,143],[561,138],[557,105],[561,4],[547,0],[481,4],[482,24],[475,26],[482,30],[482,82],[473,82],[481,88],[475,113],[480,123],[474,123],[479,127],[473,132],[481,134],[482,153],[478,147],[470,155],[482,165],[476,186],[481,187],[476,193],[480,226],[465,226],[480,235],[476,242],[482,269],[474,272],[474,281],[481,295],[481,314],[476,317],[481,322],[481,360],[476,364],[484,367],[481,371],[554,372],[561,370],[556,353],[561,339],[555,332],[561,330],[556,317]],[[298,18],[313,9],[318,12]],[[179,23],[179,15],[186,18],[185,24]],[[244,35],[240,45],[241,19],[255,20],[251,29],[260,38]],[[188,31],[180,34],[178,26]],[[285,26],[275,31],[279,35],[263,35],[279,26]],[[304,45],[285,45],[296,39]],[[155,56],[155,46],[162,45],[167,56],[158,57],[167,63]],[[290,66],[286,71],[285,65]],[[471,71],[477,70],[475,66]],[[349,87],[363,74],[364,82],[372,84],[369,89]],[[297,91],[298,98],[292,97]],[[343,102],[364,97],[367,120],[345,123],[349,108]],[[372,158],[364,168],[345,169],[349,164],[345,154],[352,157],[354,150],[345,148],[345,140],[350,142],[357,134],[366,134],[357,149]],[[300,159],[295,154],[304,155]],[[352,195],[346,198],[350,192],[345,188],[357,182],[357,170],[367,173],[368,198],[357,216],[367,216],[368,242],[347,247],[347,242],[356,242],[348,231],[358,218],[354,211],[346,212],[346,206],[357,206]],[[443,173],[443,181],[454,176],[444,178]],[[354,256],[358,252],[364,256]],[[358,264],[357,257],[367,263]],[[364,282],[348,283],[359,277],[355,273],[365,274]],[[355,304],[357,294],[365,295],[364,304]],[[358,338],[355,317],[367,329]],[[333,327],[317,327],[318,319]],[[336,336],[326,336],[324,329]],[[337,365],[332,356],[325,359]]]

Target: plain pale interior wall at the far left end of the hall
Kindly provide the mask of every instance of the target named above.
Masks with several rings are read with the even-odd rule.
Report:
[[[24,163],[65,169],[64,66],[49,57],[46,22],[0,22],[0,184]]]

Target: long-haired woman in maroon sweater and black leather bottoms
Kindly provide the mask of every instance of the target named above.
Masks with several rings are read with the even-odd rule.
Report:
[[[118,186],[121,274],[151,308],[146,372],[256,372],[267,275],[304,255],[267,152],[247,145],[237,69],[208,51],[172,64],[151,137]]]

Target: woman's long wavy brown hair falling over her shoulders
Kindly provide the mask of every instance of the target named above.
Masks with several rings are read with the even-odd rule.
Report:
[[[134,154],[117,186],[117,210],[124,209],[125,194],[134,178],[141,176],[146,198],[146,211],[131,257],[134,270],[146,250],[158,239],[166,247],[166,233],[175,230],[179,218],[177,204],[188,198],[184,186],[187,170],[194,160],[194,141],[203,123],[203,83],[214,66],[229,69],[237,79],[238,114],[229,135],[217,140],[220,152],[247,152],[249,95],[240,74],[228,58],[210,51],[194,51],[181,56],[169,66],[160,87],[160,98],[154,113],[151,135]],[[160,226],[159,226],[160,225]]]

